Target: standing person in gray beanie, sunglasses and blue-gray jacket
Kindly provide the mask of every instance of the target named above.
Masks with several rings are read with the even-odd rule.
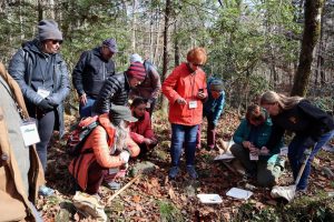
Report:
[[[29,115],[36,119],[40,142],[38,157],[46,171],[47,148],[53,129],[63,135],[63,100],[69,93],[69,79],[66,63],[59,54],[62,33],[53,20],[38,23],[38,37],[23,43],[9,63],[9,73],[19,83]],[[45,196],[53,190],[41,186]]]

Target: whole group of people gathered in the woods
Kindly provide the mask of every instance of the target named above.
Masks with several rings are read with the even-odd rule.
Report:
[[[37,194],[49,196],[55,192],[45,185],[43,172],[53,130],[59,131],[60,138],[65,133],[63,101],[70,84],[59,53],[61,43],[57,22],[42,20],[37,38],[26,42],[11,59],[9,74],[0,65],[0,90],[4,97],[0,102],[0,130],[4,135],[0,140],[0,174],[6,178],[1,178],[0,203],[9,204],[3,212],[0,209],[0,214],[9,221],[29,216],[40,220],[33,206]],[[168,176],[173,180],[179,175],[185,152],[185,169],[191,179],[197,179],[195,157],[202,148],[200,124],[206,118],[206,148],[214,150],[225,103],[223,81],[207,79],[202,69],[207,61],[206,50],[189,50],[186,61],[163,83],[155,65],[137,53],[130,56],[125,72],[116,73],[111,58],[117,52],[115,39],[107,39],[100,47],[85,51],[72,72],[80,119],[95,117],[99,122],[69,165],[78,188],[90,195],[97,195],[102,183],[118,189],[115,179],[124,176],[129,158],[145,155],[157,145],[151,115],[160,90],[169,101],[171,124]],[[311,161],[334,135],[333,118],[307,100],[265,92],[258,104],[247,108],[230,151],[247,175],[257,178],[259,185],[272,186],[284,170],[279,149],[285,130],[295,132],[288,145],[295,179],[303,152],[313,150],[297,184],[298,190],[305,191]],[[17,208],[10,208],[11,204]]]

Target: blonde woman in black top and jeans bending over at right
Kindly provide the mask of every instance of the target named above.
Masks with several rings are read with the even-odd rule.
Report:
[[[272,135],[266,147],[271,148],[276,144],[286,130],[295,133],[288,145],[287,155],[295,180],[303,163],[304,151],[313,148],[297,184],[297,190],[306,191],[311,162],[334,135],[333,118],[304,98],[285,97],[274,91],[267,91],[261,97],[261,105],[268,111],[273,121]]]

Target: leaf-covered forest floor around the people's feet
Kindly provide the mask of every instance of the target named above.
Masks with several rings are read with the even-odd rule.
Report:
[[[155,170],[144,173],[112,201],[108,202],[108,199],[115,191],[105,186],[100,189],[101,202],[106,205],[105,212],[110,221],[310,221],[334,215],[334,201],[328,198],[334,193],[334,182],[333,178],[328,179],[331,175],[325,175],[323,171],[324,167],[334,171],[332,152],[320,153],[313,164],[307,193],[288,204],[272,199],[269,189],[258,188],[256,183],[245,181],[242,175],[232,172],[222,161],[214,161],[214,158],[219,154],[218,151],[206,149],[196,151],[198,180],[191,180],[183,165],[181,174],[176,180],[169,181],[170,130],[167,119],[160,117],[159,112],[154,117],[154,129],[159,144],[145,159],[131,160],[129,168],[149,161],[155,164]],[[69,125],[75,122],[76,118],[66,117],[67,132]],[[218,125],[217,138],[229,140],[238,124],[239,118],[236,112],[224,113]],[[203,132],[204,138],[205,134]],[[206,141],[202,142],[205,148]],[[49,148],[47,184],[56,190],[56,195],[47,199],[40,196],[38,200],[38,209],[42,211],[45,221],[94,221],[85,219],[72,205],[75,192],[68,173],[69,162],[65,142],[55,139]],[[122,185],[132,176],[126,176],[121,181]],[[287,164],[278,184],[289,185],[292,182]],[[254,194],[247,201],[226,195],[232,188],[249,190],[247,189],[249,184],[255,188],[252,191]],[[223,203],[200,203],[196,196],[198,193],[217,193],[222,196]]]

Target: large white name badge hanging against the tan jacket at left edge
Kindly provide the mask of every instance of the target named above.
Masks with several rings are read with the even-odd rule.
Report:
[[[37,130],[36,122],[33,119],[30,119],[29,121],[24,121],[21,124],[20,130],[21,130],[26,147],[29,147],[29,145],[40,142],[38,130]]]

